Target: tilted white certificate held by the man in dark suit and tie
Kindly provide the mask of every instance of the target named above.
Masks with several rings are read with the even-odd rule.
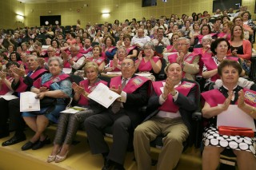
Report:
[[[121,96],[118,93],[111,91],[106,85],[99,83],[88,97],[103,105],[105,108],[108,108],[118,97]]]

